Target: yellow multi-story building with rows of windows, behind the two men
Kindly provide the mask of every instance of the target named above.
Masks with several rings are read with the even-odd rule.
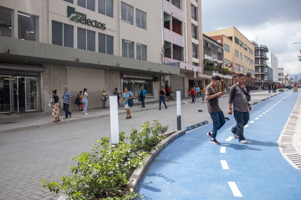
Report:
[[[236,83],[235,77],[242,73],[246,75],[246,85],[255,84],[254,76],[254,45],[235,27],[221,29],[204,33],[214,40],[223,41],[224,45],[224,62],[229,60],[231,71],[233,72],[232,84]],[[230,39],[227,40],[226,38]],[[229,42],[230,41],[230,42]],[[229,48],[225,44],[229,46]],[[229,51],[227,51],[229,49]]]

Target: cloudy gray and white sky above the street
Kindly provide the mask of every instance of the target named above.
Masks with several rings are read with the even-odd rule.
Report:
[[[249,40],[257,36],[284,72],[298,74],[301,43],[292,43],[301,42],[300,9],[301,0],[202,0],[203,33],[234,26]]]

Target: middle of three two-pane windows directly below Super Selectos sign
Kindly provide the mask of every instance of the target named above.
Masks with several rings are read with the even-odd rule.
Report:
[[[95,51],[95,32],[77,27],[77,48]]]

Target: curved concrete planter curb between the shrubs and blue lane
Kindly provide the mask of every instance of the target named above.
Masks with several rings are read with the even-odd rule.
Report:
[[[131,177],[129,179],[130,181],[128,183],[128,188],[133,188],[134,191],[136,192],[138,184],[140,183],[140,180],[141,180],[144,172],[147,170],[148,166],[155,159],[155,157],[158,155],[158,153],[160,153],[160,151],[164,147],[166,147],[169,143],[171,143],[173,140],[184,135],[185,133],[186,133],[185,130],[177,131],[177,132],[173,133],[172,135],[168,136],[167,138],[165,138],[164,140],[162,140],[159,144],[157,144],[156,146],[158,147],[158,149],[156,151],[152,151],[150,153],[150,155],[146,156],[143,159],[143,162],[145,162],[145,165],[143,167],[138,167],[131,175]],[[166,135],[169,135],[169,134],[166,134]]]

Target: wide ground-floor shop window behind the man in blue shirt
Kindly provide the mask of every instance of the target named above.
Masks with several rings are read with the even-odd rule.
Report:
[[[153,81],[152,80],[127,80],[123,79],[123,87],[129,87],[129,91],[132,91],[134,96],[138,96],[140,93],[140,87],[143,86],[147,91],[147,96],[153,96]]]

